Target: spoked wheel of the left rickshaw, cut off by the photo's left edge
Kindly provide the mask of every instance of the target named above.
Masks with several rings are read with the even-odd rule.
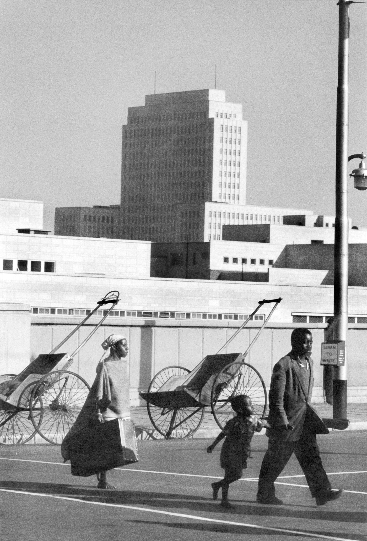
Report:
[[[36,382],[33,381],[23,389],[17,406],[11,406],[6,402],[2,402],[0,406],[1,445],[20,445],[35,436],[35,426],[30,417],[30,398],[35,385]],[[41,423],[41,411],[37,408],[37,405],[35,407],[34,419],[35,423],[39,425]]]

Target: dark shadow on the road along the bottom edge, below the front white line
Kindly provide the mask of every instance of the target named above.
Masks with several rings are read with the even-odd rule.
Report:
[[[235,520],[235,518],[233,518],[233,520]],[[157,520],[125,520],[125,522],[131,522],[131,523],[135,523],[135,524],[151,524],[151,525],[161,525],[161,526],[166,526],[166,527],[170,527],[170,528],[176,528],[176,529],[181,529],[181,530],[193,530],[193,531],[198,531],[198,532],[211,532],[211,533],[233,533],[233,534],[258,534],[258,535],[268,535],[268,536],[273,536],[275,535],[276,532],[272,531],[272,530],[260,530],[258,528],[252,528],[250,526],[232,526],[230,524],[183,524],[183,523],[172,523],[172,522],[157,522]],[[276,527],[276,526],[274,526]],[[280,527],[280,526],[279,526]],[[287,529],[285,527],[285,529]],[[314,536],[335,536],[335,537],[340,537],[341,536],[341,533],[340,532],[330,532],[330,531],[313,531],[313,530],[299,530],[299,529],[296,529],[296,528],[292,528],[290,527],[289,528],[290,530],[292,530],[293,532],[299,532],[300,534],[302,533],[311,533],[313,534]],[[279,532],[279,535],[283,537],[287,537],[287,536],[292,536],[294,537],[295,534],[294,533],[286,533],[286,532]],[[343,533],[343,538],[344,539],[351,539],[352,541],[366,541],[367,537],[364,536],[364,535],[358,535],[356,533]]]

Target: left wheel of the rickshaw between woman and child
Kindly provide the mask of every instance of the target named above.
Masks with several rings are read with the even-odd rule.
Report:
[[[189,374],[190,370],[182,366],[168,366],[152,379],[148,393],[158,392],[172,377]],[[203,407],[183,407],[169,409],[146,403],[148,415],[157,432],[165,439],[188,438],[197,431],[204,417]]]

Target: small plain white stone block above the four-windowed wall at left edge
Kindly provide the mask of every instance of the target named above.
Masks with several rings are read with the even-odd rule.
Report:
[[[16,233],[17,228],[43,229],[43,202],[0,199],[0,232]]]

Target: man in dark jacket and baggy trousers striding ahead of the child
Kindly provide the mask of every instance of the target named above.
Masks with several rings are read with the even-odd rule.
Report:
[[[317,433],[329,431],[308,404],[313,387],[309,329],[294,329],[291,346],[291,352],[277,362],[271,376],[268,420],[271,428],[266,430],[269,444],[259,474],[256,500],[261,504],[283,504],[275,496],[274,481],[295,453],[312,498],[316,498],[316,505],[324,505],[341,497],[343,490],[331,490],[316,441]]]

